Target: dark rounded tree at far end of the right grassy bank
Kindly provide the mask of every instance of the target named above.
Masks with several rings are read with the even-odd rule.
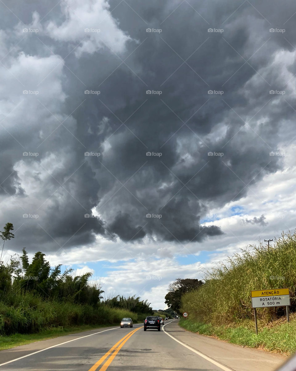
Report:
[[[199,288],[201,285],[203,285],[203,282],[195,278],[177,278],[169,285],[168,293],[165,295],[166,305],[179,313],[182,295]]]

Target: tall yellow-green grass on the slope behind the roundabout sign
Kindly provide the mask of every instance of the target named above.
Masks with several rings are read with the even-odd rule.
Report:
[[[182,297],[190,318],[212,324],[229,324],[253,318],[251,290],[289,288],[296,294],[296,234],[282,235],[274,246],[249,246],[205,273],[205,285]],[[258,309],[265,322],[284,315],[283,307]],[[291,299],[290,311],[296,311]]]

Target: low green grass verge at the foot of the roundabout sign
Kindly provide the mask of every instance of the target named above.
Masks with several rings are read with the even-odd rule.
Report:
[[[186,319],[186,321],[181,319],[179,325],[188,331],[214,336],[232,344],[260,348],[286,355],[296,352],[295,316],[290,318],[290,323],[284,322],[282,318],[267,326],[258,324],[258,335],[255,333],[255,323],[253,321],[243,321],[240,325],[214,326],[191,319]]]

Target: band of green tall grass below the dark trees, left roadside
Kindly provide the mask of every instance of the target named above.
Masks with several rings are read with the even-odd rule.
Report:
[[[137,313],[104,304],[46,301],[31,293],[15,295],[10,301],[0,302],[0,335],[34,333],[57,326],[114,325],[123,317],[138,321]]]

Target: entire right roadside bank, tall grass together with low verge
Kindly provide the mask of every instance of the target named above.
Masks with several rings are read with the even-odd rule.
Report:
[[[249,347],[292,354],[296,351],[296,234],[282,235],[274,246],[249,246],[205,274],[205,284],[185,293],[181,326]],[[285,307],[258,308],[255,334],[251,290],[289,288],[290,319]]]

